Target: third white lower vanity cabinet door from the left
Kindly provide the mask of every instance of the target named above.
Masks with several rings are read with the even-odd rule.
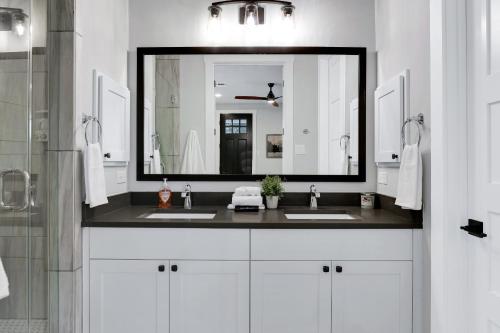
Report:
[[[330,333],[331,262],[252,262],[252,333]]]

